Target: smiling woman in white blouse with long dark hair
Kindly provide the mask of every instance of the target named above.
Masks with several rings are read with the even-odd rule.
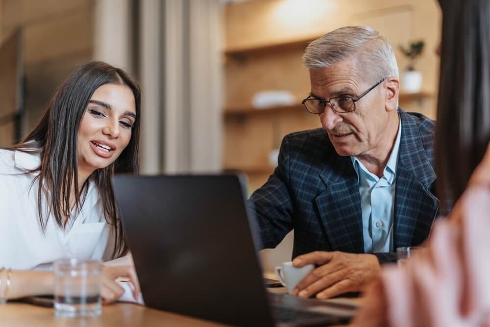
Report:
[[[128,252],[111,178],[138,171],[140,98],[123,70],[87,63],[58,87],[25,140],[0,150],[0,268],[11,269],[0,271],[0,298],[52,294],[52,272],[39,269],[60,257]],[[122,295],[115,277],[130,277],[139,292],[124,261],[104,268],[106,303]]]

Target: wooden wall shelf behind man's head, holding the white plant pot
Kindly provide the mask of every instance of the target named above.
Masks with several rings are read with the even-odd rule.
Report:
[[[401,93],[399,96],[400,102],[407,101],[420,101],[424,98],[432,97],[431,93],[428,92],[417,92],[417,93]],[[293,105],[279,105],[268,108],[254,108],[254,107],[243,107],[243,108],[226,108],[224,110],[225,117],[235,117],[240,115],[248,114],[266,114],[266,113],[279,113],[279,112],[306,112],[306,109],[301,103]]]

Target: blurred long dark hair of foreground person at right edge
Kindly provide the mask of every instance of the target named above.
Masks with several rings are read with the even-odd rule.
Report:
[[[490,1],[441,0],[436,171],[442,205],[466,188],[490,141]]]

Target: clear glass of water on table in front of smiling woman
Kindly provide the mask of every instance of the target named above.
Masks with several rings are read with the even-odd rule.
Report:
[[[58,317],[98,316],[102,313],[102,263],[75,258],[54,262],[54,312]]]

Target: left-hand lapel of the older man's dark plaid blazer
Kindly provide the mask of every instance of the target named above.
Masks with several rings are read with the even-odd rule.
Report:
[[[350,157],[334,153],[320,173],[326,185],[315,199],[328,241],[335,251],[363,253],[359,181]]]

